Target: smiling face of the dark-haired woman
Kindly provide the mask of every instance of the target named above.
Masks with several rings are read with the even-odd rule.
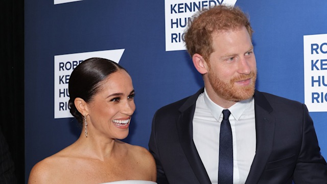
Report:
[[[98,93],[87,106],[89,135],[124,139],[128,135],[130,119],[135,110],[131,77],[124,70],[112,73],[101,82]]]

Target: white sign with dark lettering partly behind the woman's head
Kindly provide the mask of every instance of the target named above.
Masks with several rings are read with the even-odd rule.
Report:
[[[109,59],[119,63],[125,49],[96,51],[55,56],[55,119],[73,117],[68,108],[68,82],[74,68],[91,57]]]

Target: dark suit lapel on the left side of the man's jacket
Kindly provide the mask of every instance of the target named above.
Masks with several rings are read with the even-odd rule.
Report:
[[[203,88],[191,96],[179,109],[180,116],[176,119],[179,141],[189,164],[199,180],[199,183],[211,183],[202,164],[202,160],[193,142],[193,116],[195,103]]]

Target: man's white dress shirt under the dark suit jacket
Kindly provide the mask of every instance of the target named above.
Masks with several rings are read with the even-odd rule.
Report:
[[[237,102],[228,108],[233,139],[233,183],[245,183],[255,155],[254,99]],[[193,118],[193,141],[212,183],[218,183],[219,133],[223,107],[202,93]]]

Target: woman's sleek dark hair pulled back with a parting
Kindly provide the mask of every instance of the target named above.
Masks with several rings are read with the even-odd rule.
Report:
[[[90,102],[101,87],[101,82],[119,70],[126,71],[119,64],[103,58],[86,59],[74,69],[68,82],[68,105],[79,123],[83,123],[84,116],[75,107],[75,99]]]

